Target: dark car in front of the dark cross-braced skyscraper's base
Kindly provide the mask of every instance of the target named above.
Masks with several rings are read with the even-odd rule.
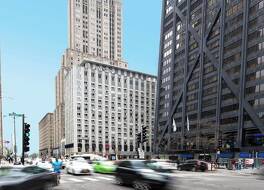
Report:
[[[204,161],[200,160],[187,160],[186,162],[178,165],[178,170],[185,170],[185,171],[207,171],[208,164]]]

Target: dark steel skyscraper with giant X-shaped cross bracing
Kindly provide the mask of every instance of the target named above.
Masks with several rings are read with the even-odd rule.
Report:
[[[264,1],[163,0],[155,152],[264,152]]]

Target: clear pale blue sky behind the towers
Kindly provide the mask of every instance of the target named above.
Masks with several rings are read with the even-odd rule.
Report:
[[[31,125],[30,153],[39,146],[38,123],[55,109],[55,76],[68,47],[67,0],[0,0],[4,140],[11,112]],[[129,69],[157,75],[161,0],[123,0],[123,57]],[[21,118],[16,119],[18,154]]]

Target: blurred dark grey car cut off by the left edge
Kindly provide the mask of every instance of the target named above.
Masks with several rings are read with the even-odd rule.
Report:
[[[39,168],[0,168],[0,190],[51,190],[59,183],[55,173]]]

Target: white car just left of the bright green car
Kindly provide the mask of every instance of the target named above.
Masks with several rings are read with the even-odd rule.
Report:
[[[69,174],[92,174],[93,168],[86,160],[72,160],[66,166],[66,172]]]

